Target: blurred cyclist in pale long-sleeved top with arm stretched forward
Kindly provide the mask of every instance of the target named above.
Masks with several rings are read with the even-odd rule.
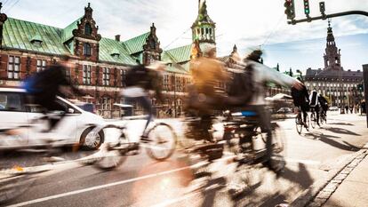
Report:
[[[244,63],[245,69],[252,70],[253,94],[252,99],[246,108],[256,113],[257,121],[262,131],[267,132],[267,155],[263,157],[263,162],[268,164],[268,168],[272,171],[280,171],[284,165],[277,163],[272,159],[272,132],[270,112],[266,110],[266,84],[272,82],[286,87],[294,87],[297,90],[303,89],[303,84],[291,76],[286,76],[275,69],[268,68],[261,63],[262,52],[260,50],[253,51],[248,55]]]

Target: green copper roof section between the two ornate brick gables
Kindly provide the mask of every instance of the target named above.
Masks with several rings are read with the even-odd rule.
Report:
[[[118,58],[111,56],[112,52],[119,54]],[[116,40],[102,37],[100,40],[100,60],[122,64],[135,65],[136,62],[126,51],[124,45]]]

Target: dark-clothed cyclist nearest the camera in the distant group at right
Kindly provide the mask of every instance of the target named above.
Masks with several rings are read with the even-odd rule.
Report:
[[[297,79],[301,82],[300,77]],[[294,106],[299,107],[301,112],[303,113],[303,124],[306,128],[307,125],[307,111],[309,110],[309,94],[307,87],[303,84],[303,89],[299,91],[295,87],[292,87],[292,100],[294,101]]]

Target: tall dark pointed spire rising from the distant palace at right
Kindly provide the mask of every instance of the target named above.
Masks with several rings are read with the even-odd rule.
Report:
[[[342,70],[340,49],[337,48],[335,37],[332,33],[331,22],[328,21],[327,43],[324,53],[324,69]]]

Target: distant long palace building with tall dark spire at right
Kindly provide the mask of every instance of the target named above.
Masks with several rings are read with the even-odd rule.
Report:
[[[341,66],[341,53],[338,49],[332,27],[327,28],[324,69],[307,69],[305,76],[309,91],[316,90],[330,101],[331,106],[355,106],[364,98],[359,87],[363,83],[363,72],[344,70]]]

